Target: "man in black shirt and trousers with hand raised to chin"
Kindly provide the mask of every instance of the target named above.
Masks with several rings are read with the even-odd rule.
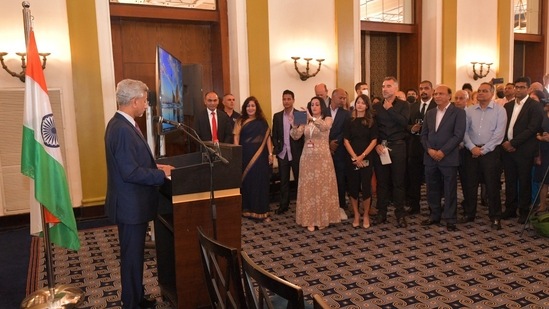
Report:
[[[389,76],[383,81],[384,101],[374,104],[376,124],[378,126],[377,156],[374,156],[374,169],[377,177],[378,216],[374,224],[387,221],[387,206],[392,200],[395,205],[397,227],[407,227],[404,204],[406,199],[406,137],[410,115],[408,102],[399,100],[395,94],[398,81]],[[387,156],[390,163],[382,162],[380,157]],[[385,163],[385,164],[384,164]],[[392,185],[392,192],[390,188]]]

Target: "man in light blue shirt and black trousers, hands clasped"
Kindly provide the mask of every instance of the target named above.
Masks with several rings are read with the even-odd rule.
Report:
[[[500,144],[505,136],[507,113],[492,100],[494,85],[482,83],[478,88],[478,103],[465,109],[467,127],[463,142],[468,150],[463,164],[466,181],[465,217],[462,222],[475,220],[479,179],[484,179],[488,200],[488,216],[492,229],[501,229],[501,154]]]

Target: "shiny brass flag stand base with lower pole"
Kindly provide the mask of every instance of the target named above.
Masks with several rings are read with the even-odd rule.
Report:
[[[21,303],[21,308],[76,308],[83,301],[84,292],[77,287],[67,284],[55,286],[49,226],[45,219],[44,205],[40,204],[40,210],[42,214],[42,231],[44,233],[43,241],[48,286],[36,290],[29,296],[25,297]]]

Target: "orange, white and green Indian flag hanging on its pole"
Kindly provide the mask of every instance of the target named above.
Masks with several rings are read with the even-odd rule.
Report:
[[[27,46],[23,118],[21,173],[34,180],[34,198],[46,210],[50,241],[67,249],[78,250],[80,241],[67,176],[32,29]],[[31,222],[41,217],[38,203],[31,200]]]

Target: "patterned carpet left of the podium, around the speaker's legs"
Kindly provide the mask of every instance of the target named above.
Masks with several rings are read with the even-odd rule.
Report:
[[[80,230],[78,234],[80,251],[53,249],[55,284],[71,284],[84,291],[84,301],[78,308],[121,308],[120,248],[116,226]],[[160,297],[155,256],[154,249],[146,249],[145,294],[157,298],[157,308],[170,308],[169,303],[162,302]],[[44,246],[41,238],[33,237],[27,294],[46,285]]]

